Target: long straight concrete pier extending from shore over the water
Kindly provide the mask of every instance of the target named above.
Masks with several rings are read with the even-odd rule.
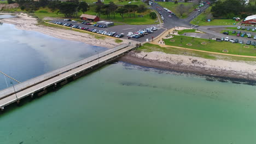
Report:
[[[119,45],[113,49],[98,53],[98,55],[82,59],[81,61],[66,65],[60,69],[21,82],[14,86],[17,97],[13,87],[3,89],[0,91],[0,110],[4,110],[5,106],[15,103],[22,98],[28,96],[31,98],[37,97],[54,91],[57,87],[61,87],[108,62],[114,61],[114,59],[123,56],[133,48],[135,48],[135,46],[126,44]]]

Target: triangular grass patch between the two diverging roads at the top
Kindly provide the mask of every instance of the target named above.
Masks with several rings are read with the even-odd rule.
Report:
[[[176,8],[178,7],[179,4],[192,5],[192,3],[178,3],[178,4],[174,4],[174,2],[158,2],[158,4],[161,5],[164,8],[167,8],[167,9],[173,11],[173,13],[176,14],[178,17],[181,17],[181,15],[176,10]],[[194,10],[194,8],[193,8],[193,6],[191,6],[191,9],[189,9],[189,12],[188,13],[184,13],[181,18],[184,19],[184,18],[188,17],[188,14],[191,13],[191,11],[193,11],[193,10]]]

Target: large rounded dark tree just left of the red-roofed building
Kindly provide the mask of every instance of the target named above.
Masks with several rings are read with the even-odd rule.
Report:
[[[57,13],[64,14],[65,17],[73,17],[77,12],[78,4],[72,2],[62,2]]]

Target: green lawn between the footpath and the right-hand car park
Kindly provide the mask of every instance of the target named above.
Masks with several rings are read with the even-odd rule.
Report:
[[[174,42],[170,41],[172,39],[175,41]],[[174,38],[165,39],[164,41],[166,45],[180,46],[188,49],[219,52],[219,53],[225,53],[222,51],[228,50],[229,51],[228,53],[233,55],[256,56],[256,49],[252,45],[249,45],[249,48],[245,48],[243,47],[244,45],[242,46],[241,44],[236,44],[236,43],[232,44],[226,41],[218,42],[215,40],[185,37],[182,35],[174,35]],[[205,42],[206,45],[201,44],[203,42]],[[188,43],[192,45],[188,46],[187,45]]]

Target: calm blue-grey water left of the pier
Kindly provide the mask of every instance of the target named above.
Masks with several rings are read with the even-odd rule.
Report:
[[[8,17],[10,15],[0,15]],[[78,41],[50,37],[39,32],[23,31],[14,25],[0,25],[0,70],[22,82],[80,59],[107,50]],[[10,80],[0,74],[0,90],[10,86]]]

